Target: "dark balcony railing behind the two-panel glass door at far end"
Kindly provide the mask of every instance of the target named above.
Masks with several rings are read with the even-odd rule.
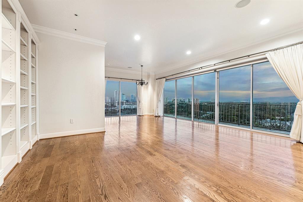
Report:
[[[137,102],[121,102],[121,116],[136,114]],[[119,102],[106,102],[105,116],[119,116]]]

